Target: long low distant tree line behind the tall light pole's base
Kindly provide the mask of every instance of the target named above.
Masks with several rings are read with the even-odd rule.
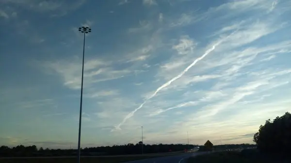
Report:
[[[94,148],[81,149],[81,155],[125,155],[125,154],[141,154],[142,142],[137,144],[127,144],[121,146],[102,146]],[[188,145],[183,144],[154,144],[145,145],[144,153],[162,153],[162,152],[175,152],[183,151],[188,148]],[[194,148],[194,145],[189,145],[189,148]],[[33,156],[74,156],[77,155],[76,149],[37,149],[36,146],[17,146],[9,148],[7,146],[0,147],[0,157],[33,157]]]

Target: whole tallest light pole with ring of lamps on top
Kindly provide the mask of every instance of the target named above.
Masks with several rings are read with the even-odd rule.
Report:
[[[83,98],[83,74],[84,74],[84,52],[85,52],[85,35],[91,32],[89,27],[80,27],[79,31],[84,33],[84,44],[83,44],[83,62],[82,62],[82,79],[81,79],[81,98],[80,98],[80,118],[79,118],[79,137],[78,137],[78,163],[80,163],[81,157],[81,119],[82,119],[82,98]]]

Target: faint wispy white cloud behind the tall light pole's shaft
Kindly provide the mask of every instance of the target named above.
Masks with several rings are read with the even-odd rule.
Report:
[[[84,63],[84,87],[90,87],[92,84],[107,80],[114,80],[131,71],[127,69],[116,70],[110,67],[111,62],[88,59]],[[74,60],[62,60],[55,62],[45,62],[42,64],[47,72],[56,72],[62,78],[64,85],[70,89],[80,89],[81,87],[81,62]]]

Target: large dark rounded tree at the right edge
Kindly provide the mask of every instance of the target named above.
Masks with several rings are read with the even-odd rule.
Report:
[[[291,153],[291,114],[285,113],[273,121],[266,120],[265,125],[259,127],[253,141],[258,149],[266,153]]]

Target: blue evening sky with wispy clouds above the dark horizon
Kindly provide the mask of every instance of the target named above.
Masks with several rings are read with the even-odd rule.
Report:
[[[0,145],[253,143],[291,111],[290,0],[0,0]]]

